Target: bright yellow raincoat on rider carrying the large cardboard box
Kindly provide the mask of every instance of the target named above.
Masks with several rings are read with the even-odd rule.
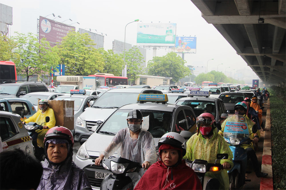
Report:
[[[45,122],[45,118],[49,116],[50,121],[47,123]],[[33,116],[29,117],[28,119],[25,119],[25,123],[29,122],[36,122],[37,124],[43,123],[44,125],[47,125],[49,128],[52,128],[55,126],[55,114],[53,113],[53,109],[47,107],[45,113],[42,113],[42,111],[39,109]],[[41,146],[44,148],[44,137],[49,129],[43,129],[43,130],[36,130],[38,133],[37,143],[38,146]]]

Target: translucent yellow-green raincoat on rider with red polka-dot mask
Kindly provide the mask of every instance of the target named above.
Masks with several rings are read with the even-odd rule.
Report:
[[[213,129],[213,136],[210,139],[205,139],[202,134],[194,134],[187,141],[187,152],[184,159],[194,160],[207,160],[208,163],[215,163],[217,154],[228,154],[228,159],[221,160],[221,164],[228,162],[233,167],[233,154],[225,142],[224,138],[217,133],[217,129]],[[229,169],[228,169],[229,170]],[[206,176],[217,178],[220,182],[219,189],[229,189],[229,176],[227,170],[207,172]]]

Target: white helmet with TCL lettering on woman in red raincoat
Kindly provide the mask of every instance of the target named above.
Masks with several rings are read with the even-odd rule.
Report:
[[[162,144],[169,144],[175,148],[182,149],[182,157],[186,155],[186,140],[184,137],[176,132],[168,132],[164,134],[158,141],[158,148]]]

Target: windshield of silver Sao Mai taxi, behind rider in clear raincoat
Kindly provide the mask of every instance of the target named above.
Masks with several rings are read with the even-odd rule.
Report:
[[[117,110],[102,125],[99,133],[111,132],[116,134],[120,129],[127,127],[127,115],[129,109]],[[148,131],[154,138],[160,138],[163,134],[170,132],[172,112],[160,110],[140,110],[143,115],[142,128]],[[164,117],[163,117],[164,115]],[[166,117],[165,117],[166,116]],[[144,123],[145,122],[145,123]],[[144,125],[144,126],[143,126]]]

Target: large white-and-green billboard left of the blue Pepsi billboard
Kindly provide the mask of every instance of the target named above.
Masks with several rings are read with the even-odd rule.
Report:
[[[175,46],[176,26],[174,23],[138,23],[138,46]]]

